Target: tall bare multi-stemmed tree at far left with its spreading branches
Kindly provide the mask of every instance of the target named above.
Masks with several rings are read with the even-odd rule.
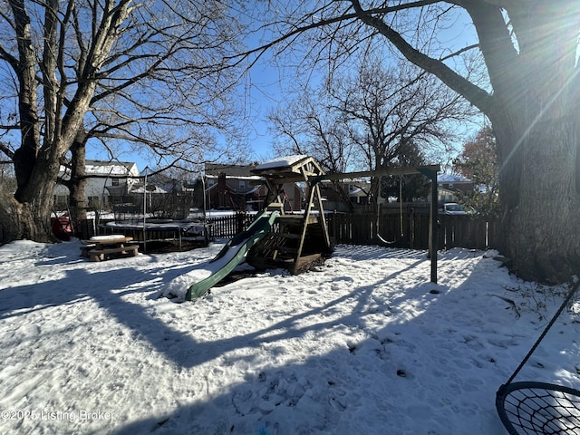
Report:
[[[17,141],[0,146],[17,179],[14,198],[0,198],[11,228],[3,240],[51,239],[60,164],[68,155],[82,179],[89,139],[133,142],[170,161],[207,158],[212,130],[226,129],[235,107],[224,58],[239,50],[241,27],[231,13],[219,0],[0,5],[1,71],[14,84],[0,115]]]

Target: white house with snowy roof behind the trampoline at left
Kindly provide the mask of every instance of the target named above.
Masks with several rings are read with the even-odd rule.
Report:
[[[122,202],[123,198],[140,184],[137,165],[125,161],[86,160],[87,184],[85,196],[89,208],[106,208]],[[61,167],[59,178],[69,179],[70,169]],[[54,189],[56,208],[65,208],[69,203],[69,189],[58,184]]]

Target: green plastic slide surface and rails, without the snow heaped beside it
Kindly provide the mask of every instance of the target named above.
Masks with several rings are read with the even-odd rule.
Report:
[[[279,215],[280,213],[277,211],[271,213],[262,211],[256,215],[254,222],[247,227],[247,230],[229,240],[226,246],[219,251],[219,254],[208,263],[211,275],[189,286],[185,296],[186,301],[192,301],[205,295],[211,287],[229,275],[246,257],[247,251],[266,236],[274,224],[275,218]]]

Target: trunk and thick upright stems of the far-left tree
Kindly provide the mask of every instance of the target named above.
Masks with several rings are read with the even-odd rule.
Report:
[[[34,37],[40,35],[33,31],[34,20],[29,15],[28,5],[18,0],[8,2],[14,15],[14,43],[18,53],[16,56],[3,53],[3,57],[13,67],[18,79],[21,144],[14,151],[17,180],[14,197],[0,195],[0,227],[4,241],[17,238],[37,242],[55,240],[50,218],[60,162],[82,128],[82,120],[100,80],[99,71],[112,45],[120,37],[121,24],[131,12],[131,3],[130,0],[106,2],[101,14],[96,14],[95,9],[93,18],[98,18],[99,22],[94,23],[92,40],[81,47],[86,49],[86,57],[77,71],[74,91],[69,94],[63,86],[70,80],[66,78],[64,71],[67,68],[62,57],[68,45],[57,37],[59,32],[67,33],[63,28],[57,31],[55,17],[61,17],[61,13],[57,12],[58,2],[43,5],[43,50],[40,53],[37,51],[39,44],[34,43]],[[34,14],[42,14],[32,4],[31,10]],[[71,11],[69,9],[69,13]],[[4,13],[7,14],[7,11]],[[70,24],[71,17],[68,13],[66,15],[62,25]],[[42,117],[38,115],[39,77],[42,77]]]

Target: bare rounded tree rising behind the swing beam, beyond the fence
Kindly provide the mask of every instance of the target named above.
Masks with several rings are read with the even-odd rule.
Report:
[[[455,140],[455,123],[472,114],[459,95],[405,64],[387,70],[365,59],[356,77],[337,81],[329,92],[365,170],[398,165],[410,144],[422,153],[448,146]],[[379,181],[372,180],[374,198]]]

